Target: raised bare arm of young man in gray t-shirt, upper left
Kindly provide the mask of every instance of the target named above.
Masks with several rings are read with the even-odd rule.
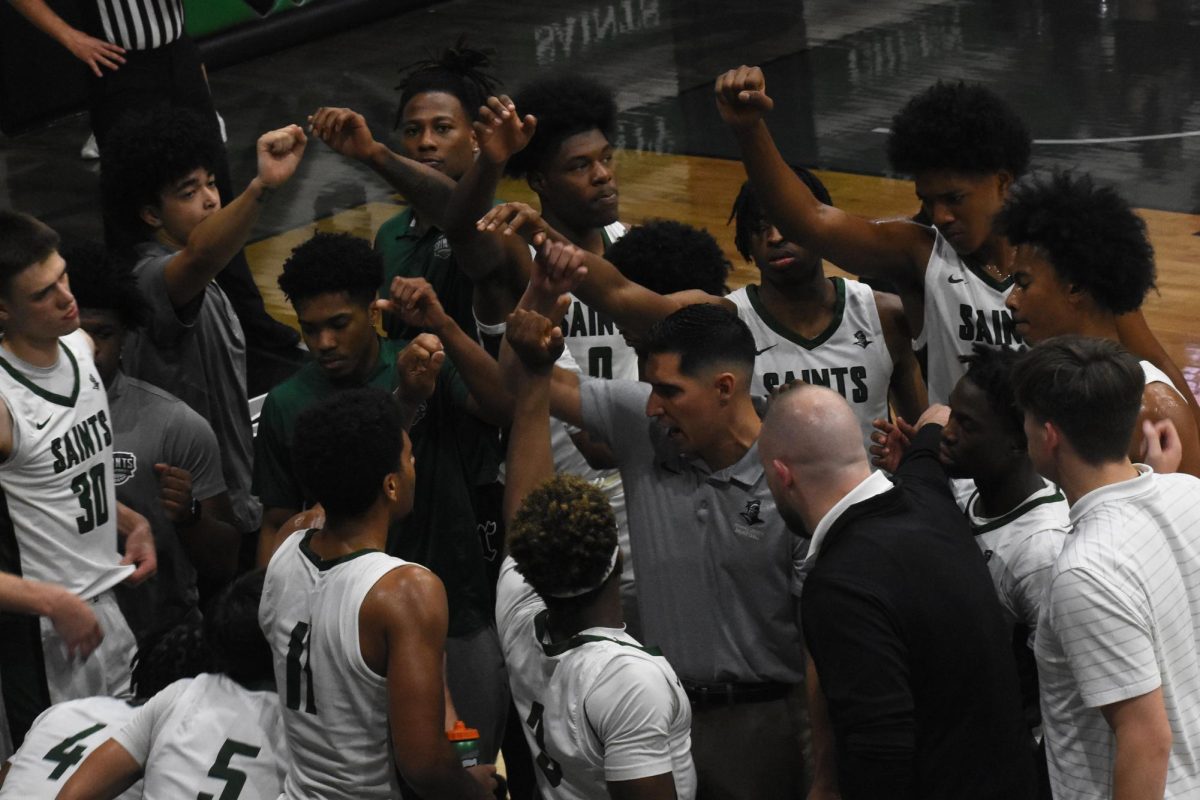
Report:
[[[250,186],[196,225],[184,249],[167,263],[167,296],[175,308],[196,300],[246,245],[263,203],[295,173],[306,144],[299,125],[258,138],[258,174]]]

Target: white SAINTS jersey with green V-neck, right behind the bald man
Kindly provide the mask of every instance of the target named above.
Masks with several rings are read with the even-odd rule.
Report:
[[[883,338],[875,291],[865,283],[830,278],[836,293],[833,319],[818,336],[806,339],[770,315],[758,299],[758,287],[728,295],[738,317],[754,333],[755,359],[750,391],[769,395],[792,380],[828,386],[854,409],[863,440],[870,445],[871,420],[889,419],[888,386],[893,361]]]

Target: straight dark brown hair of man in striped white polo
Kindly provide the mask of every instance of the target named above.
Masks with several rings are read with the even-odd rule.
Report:
[[[1099,465],[1128,453],[1146,375],[1116,342],[1056,336],[1020,357],[1013,387],[1025,413],[1054,422],[1080,458]]]

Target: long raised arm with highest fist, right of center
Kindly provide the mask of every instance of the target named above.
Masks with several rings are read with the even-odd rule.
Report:
[[[874,223],[820,203],[780,155],[763,115],[774,108],[758,67],[716,79],[716,108],[733,131],[742,163],[767,217],[788,240],[847,272],[888,278],[901,291],[919,289],[932,237],[908,223]]]

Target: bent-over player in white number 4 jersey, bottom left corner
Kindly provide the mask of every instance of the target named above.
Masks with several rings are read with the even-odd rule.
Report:
[[[210,662],[199,620],[148,636],[133,661],[133,697],[84,697],[48,708],[5,765],[0,800],[53,800],[84,759],[120,730],[139,705],[176,680],[209,669]],[[142,784],[120,796],[138,800]]]

